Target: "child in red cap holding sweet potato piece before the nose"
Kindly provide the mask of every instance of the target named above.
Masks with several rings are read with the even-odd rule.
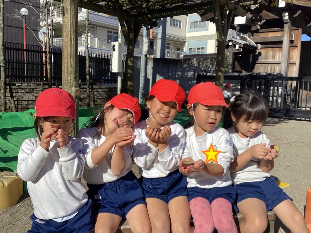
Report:
[[[37,137],[23,142],[17,161],[17,173],[27,181],[34,206],[28,233],[91,233],[92,202],[80,181],[83,143],[68,136],[74,127],[75,101],[66,91],[50,88],[39,94],[35,110]]]

